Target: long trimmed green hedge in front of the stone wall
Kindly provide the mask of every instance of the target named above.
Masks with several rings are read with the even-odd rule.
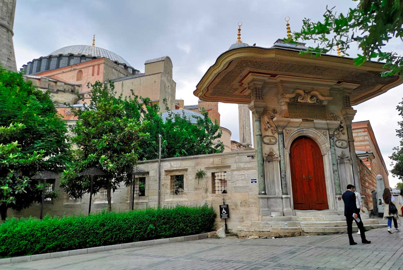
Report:
[[[211,231],[212,207],[177,206],[63,218],[10,218],[0,225],[0,257],[83,249]]]

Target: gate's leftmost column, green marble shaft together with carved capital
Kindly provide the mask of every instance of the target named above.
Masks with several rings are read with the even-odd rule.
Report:
[[[259,195],[266,195],[266,178],[264,176],[264,159],[262,150],[262,127],[261,127],[261,115],[263,113],[266,103],[262,99],[262,91],[260,87],[251,88],[252,102],[249,104],[249,109],[252,111],[254,118],[253,127],[256,137],[255,149],[256,159],[258,163],[258,183],[259,183]]]

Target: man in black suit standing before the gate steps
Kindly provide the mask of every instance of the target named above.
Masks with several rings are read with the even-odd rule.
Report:
[[[371,243],[371,241],[368,241],[365,238],[364,224],[362,223],[361,216],[359,216],[360,209],[357,208],[357,204],[355,202],[353,185],[347,185],[347,190],[345,193],[343,193],[342,198],[344,201],[344,216],[346,217],[347,233],[349,234],[350,245],[357,245],[357,243],[355,243],[353,239],[353,220],[355,220],[355,223],[357,223],[357,226],[361,232],[362,243],[363,244]],[[357,222],[356,218],[359,218],[359,222]]]

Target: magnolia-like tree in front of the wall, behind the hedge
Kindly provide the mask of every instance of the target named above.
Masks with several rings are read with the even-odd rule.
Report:
[[[90,192],[88,176],[80,172],[97,167],[104,176],[94,179],[93,193],[107,190],[109,211],[112,211],[111,190],[127,180],[127,172],[137,163],[140,140],[148,135],[143,132],[148,121],[140,121],[137,100],[115,97],[113,83],[97,81],[88,84],[92,88],[91,101],[81,109],[71,107],[80,120],[71,129],[73,151],[68,168],[62,173],[60,186],[73,198],[81,198]]]

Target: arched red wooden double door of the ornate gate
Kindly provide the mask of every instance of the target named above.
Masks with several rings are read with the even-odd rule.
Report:
[[[294,209],[328,209],[322,153],[318,144],[301,136],[290,149]]]

